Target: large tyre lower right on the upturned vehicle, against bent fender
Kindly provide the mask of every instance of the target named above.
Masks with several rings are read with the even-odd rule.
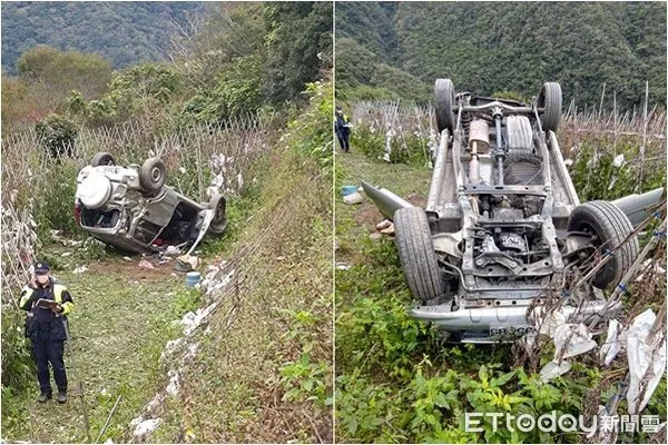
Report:
[[[623,241],[633,226],[629,218],[608,201],[584,202],[573,210],[568,220],[569,231],[586,231],[596,235],[599,245],[606,249],[616,248]],[[605,289],[608,285],[617,285],[623,274],[638,257],[638,238],[633,236],[593,277],[593,286]]]

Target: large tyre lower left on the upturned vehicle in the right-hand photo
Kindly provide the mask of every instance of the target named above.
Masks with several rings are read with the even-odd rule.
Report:
[[[442,295],[443,280],[424,210],[420,207],[396,210],[394,230],[399,259],[413,296],[426,303]]]

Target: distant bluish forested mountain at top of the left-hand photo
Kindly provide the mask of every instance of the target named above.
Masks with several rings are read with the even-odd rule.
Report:
[[[94,52],[114,68],[165,58],[169,34],[202,2],[2,2],[2,69],[17,72],[30,48]]]

